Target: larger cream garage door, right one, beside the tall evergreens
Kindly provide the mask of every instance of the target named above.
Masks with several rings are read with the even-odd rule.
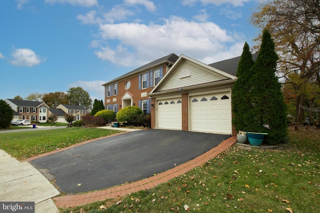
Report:
[[[229,92],[190,96],[191,131],[231,134]]]

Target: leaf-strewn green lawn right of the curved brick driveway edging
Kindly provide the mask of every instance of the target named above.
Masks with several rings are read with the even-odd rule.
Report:
[[[182,213],[188,207],[187,211],[198,213],[318,213],[319,145],[320,130],[290,127],[284,150],[234,145],[153,189],[59,211]]]

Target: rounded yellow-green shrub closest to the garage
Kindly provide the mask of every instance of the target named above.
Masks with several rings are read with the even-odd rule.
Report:
[[[128,125],[138,126],[143,123],[143,112],[138,106],[123,107],[117,114],[116,120],[127,122]]]

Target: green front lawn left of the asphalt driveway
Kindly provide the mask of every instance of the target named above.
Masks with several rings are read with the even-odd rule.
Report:
[[[54,130],[1,133],[0,148],[18,160],[25,160],[56,149],[119,132],[121,131],[72,127]]]

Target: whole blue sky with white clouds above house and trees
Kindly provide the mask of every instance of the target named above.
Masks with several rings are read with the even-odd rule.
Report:
[[[0,99],[101,84],[170,53],[239,56],[258,0],[1,0]]]

